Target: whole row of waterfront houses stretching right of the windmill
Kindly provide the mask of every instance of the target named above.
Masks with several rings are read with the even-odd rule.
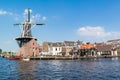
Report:
[[[64,41],[64,42],[43,42],[42,55],[60,55],[71,56],[77,54],[79,56],[117,56],[120,47],[114,47],[108,43],[83,43],[81,41]]]

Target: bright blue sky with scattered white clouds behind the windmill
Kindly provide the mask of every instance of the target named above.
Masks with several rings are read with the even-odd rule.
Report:
[[[25,10],[31,9],[32,35],[38,43],[120,39],[120,0],[0,0],[0,48],[17,51]]]

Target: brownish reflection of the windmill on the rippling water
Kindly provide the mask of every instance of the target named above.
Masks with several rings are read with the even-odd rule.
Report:
[[[35,78],[34,71],[36,71],[36,61],[19,61],[18,65],[20,80],[32,80]]]

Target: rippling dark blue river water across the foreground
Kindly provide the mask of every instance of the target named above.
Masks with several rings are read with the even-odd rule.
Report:
[[[120,80],[120,59],[15,61],[0,57],[0,80]]]

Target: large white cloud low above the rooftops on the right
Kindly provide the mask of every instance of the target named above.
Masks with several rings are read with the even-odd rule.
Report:
[[[81,37],[87,38],[99,38],[99,39],[108,39],[108,38],[119,38],[120,32],[107,32],[102,26],[85,26],[80,27],[77,30],[77,33]]]

